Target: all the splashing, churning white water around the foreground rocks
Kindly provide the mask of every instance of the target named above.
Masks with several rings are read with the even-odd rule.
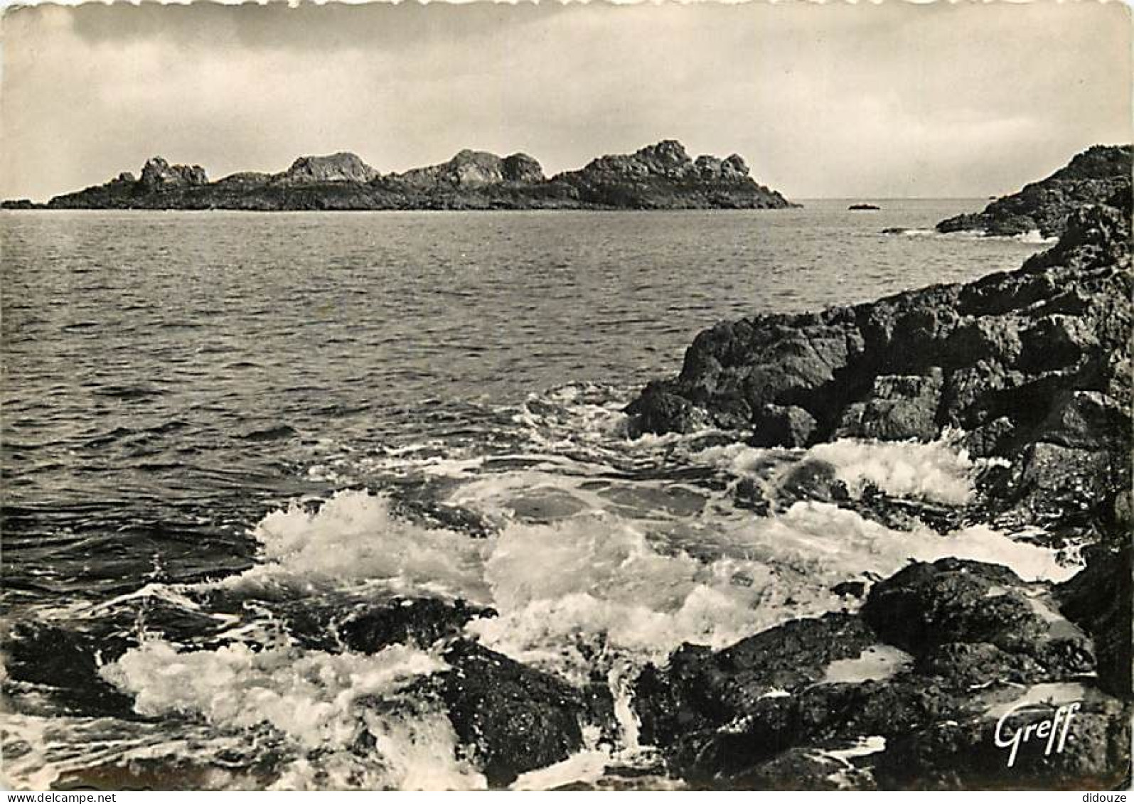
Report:
[[[249,531],[259,552],[244,572],[180,586],[152,583],[66,613],[98,621],[116,607],[160,601],[214,618],[211,641],[141,633],[100,670],[132,697],[136,713],[169,725],[177,739],[226,746],[235,770],[218,776],[212,768],[209,784],[474,789],[484,778],[445,712],[414,693],[415,679],[446,669],[438,653],[406,645],[373,655],[315,650],[288,633],[279,607],[341,617],[397,595],[490,606],[498,616],[469,621],[468,636],[573,683],[604,676],[613,695],[618,745],[589,746],[516,782],[541,788],[594,782],[616,762],[653,761],[637,742],[631,682],[645,662],[663,662],[684,642],[723,648],[795,617],[846,608],[833,585],[885,576],[912,559],[989,560],[1025,579],[1060,581],[1076,569],[984,525],[941,535],[928,526],[892,530],[853,501],[796,500],[762,515],[734,501],[742,481],[775,494],[794,467],[820,462],[852,497],[869,483],[895,497],[960,506],[980,466],[951,438],[844,439],[809,450],[754,449],[713,432],[631,441],[623,435],[624,401],[621,392],[598,387],[530,398],[500,412],[498,421],[511,422],[507,438],[479,454],[320,441],[320,465],[337,449],[336,473],[381,491],[340,490],[318,505],[294,501],[266,514]],[[471,533],[463,521],[446,526],[423,511],[458,511],[486,523],[486,532]],[[837,670],[885,676],[900,663],[882,659]],[[65,721],[25,716],[14,722],[10,744],[46,745],[9,765],[25,785],[161,753],[149,725],[107,721],[129,738],[84,752],[75,737],[90,725],[68,730]],[[259,750],[265,745],[272,746],[268,768]]]

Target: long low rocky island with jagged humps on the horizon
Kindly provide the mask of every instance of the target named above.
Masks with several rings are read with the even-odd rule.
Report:
[[[674,139],[600,156],[548,178],[524,153],[462,151],[448,162],[380,174],[353,153],[301,156],[279,174],[239,172],[210,181],[200,166],[154,156],[142,175],[118,178],[46,204],[52,210],[677,210],[797,206],[758,184],[733,154],[692,159]]]

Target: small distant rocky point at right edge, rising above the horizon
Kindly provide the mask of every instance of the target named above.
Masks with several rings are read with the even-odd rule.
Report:
[[[983,231],[985,235],[1043,237],[1063,235],[1067,219],[1077,210],[1098,204],[1131,186],[1131,146],[1094,145],[1041,181],[1014,195],[997,198],[983,212],[949,218],[938,231]]]

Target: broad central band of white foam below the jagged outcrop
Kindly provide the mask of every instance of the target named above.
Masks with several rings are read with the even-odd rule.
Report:
[[[841,446],[879,454],[873,446]],[[939,474],[959,496],[966,459],[950,463],[943,448],[919,447],[941,463]],[[875,464],[872,476],[888,477],[891,490],[913,488],[892,462]],[[464,499],[503,506],[508,494],[530,494],[532,480],[527,471],[485,479]],[[831,586],[886,576],[909,560],[958,556],[1004,564],[1025,579],[1060,581],[1077,569],[989,527],[947,535],[895,531],[821,502],[796,502],[767,517],[713,511],[685,519],[659,519],[657,511],[636,519],[624,508],[600,510],[596,496],[587,502],[549,522],[509,518],[498,535],[471,539],[407,523],[382,497],[341,492],[316,513],[291,508],[265,517],[255,530],[265,562],[229,585],[369,584],[466,598],[499,611],[468,626],[486,644],[577,676],[595,646],[635,661],[663,660],[683,642],[721,648],[841,607]]]

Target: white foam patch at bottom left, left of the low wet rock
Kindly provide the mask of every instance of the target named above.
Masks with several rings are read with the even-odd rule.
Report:
[[[367,706],[389,700],[413,679],[445,669],[437,657],[392,645],[373,655],[294,648],[254,651],[244,644],[178,652],[162,641],[127,651],[102,675],[135,696],[142,714],[203,717],[222,733],[270,726],[294,758],[279,789],[358,784],[398,789],[469,789],[483,777],[457,760],[443,713]],[[350,750],[367,731],[373,748]]]

